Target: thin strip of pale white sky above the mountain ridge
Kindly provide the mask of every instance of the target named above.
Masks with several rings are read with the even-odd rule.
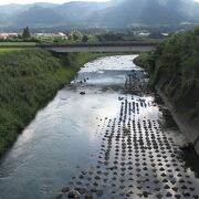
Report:
[[[53,2],[53,3],[63,3],[75,0],[0,0],[0,4],[9,4],[9,3],[33,3],[33,2]],[[78,1],[108,1],[108,0],[78,0]],[[196,0],[199,2],[199,0]]]

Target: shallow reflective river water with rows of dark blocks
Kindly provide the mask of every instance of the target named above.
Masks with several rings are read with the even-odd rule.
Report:
[[[101,198],[198,198],[198,159],[184,136],[165,128],[153,95],[124,92],[136,55],[82,67],[0,161],[1,199],[43,199],[62,188]],[[190,149],[189,149],[190,150]],[[60,195],[61,193],[61,195]]]

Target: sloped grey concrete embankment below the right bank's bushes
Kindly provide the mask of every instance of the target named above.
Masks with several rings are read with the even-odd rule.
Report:
[[[189,118],[186,116],[186,114],[182,115],[177,111],[177,108],[175,108],[175,106],[161,91],[160,86],[156,85],[155,88],[170,111],[180,132],[186,135],[188,142],[190,142],[190,144],[195,147],[197,154],[199,155],[199,123],[195,122],[190,125]]]

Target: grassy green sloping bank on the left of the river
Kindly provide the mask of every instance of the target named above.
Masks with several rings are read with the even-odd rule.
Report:
[[[53,56],[43,50],[0,53],[0,154],[83,64],[102,55]]]

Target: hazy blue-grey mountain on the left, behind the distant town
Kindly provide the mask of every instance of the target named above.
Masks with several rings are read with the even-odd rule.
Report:
[[[4,24],[15,28],[80,24],[94,12],[106,9],[112,3],[74,1],[63,4],[39,2],[0,6],[0,13],[3,15],[0,27],[6,27]]]

